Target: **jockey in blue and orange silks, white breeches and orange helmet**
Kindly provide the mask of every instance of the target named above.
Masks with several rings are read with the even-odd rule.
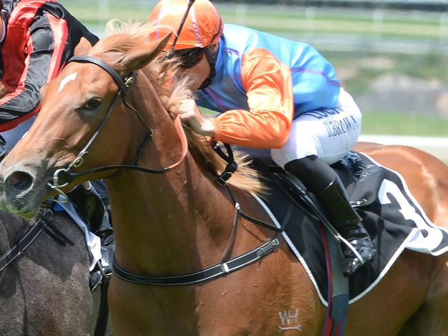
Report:
[[[188,2],[160,1],[150,14],[155,34],[166,26],[177,32]],[[173,41],[165,50],[173,49]],[[344,275],[371,259],[369,233],[329,167],[354,147],[361,127],[360,110],[332,64],[311,45],[224,25],[208,0],[192,4],[174,54],[180,76],[196,90],[196,101],[181,102],[183,122],[216,141],[270,149],[270,158],[316,195],[363,259],[344,245]],[[204,118],[198,106],[220,114]]]

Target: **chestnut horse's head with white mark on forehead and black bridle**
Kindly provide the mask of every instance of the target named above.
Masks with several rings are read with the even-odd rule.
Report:
[[[123,80],[150,63],[163,50],[170,34],[156,41],[149,41],[147,36],[112,35],[88,53],[99,63],[72,61],[43,87],[39,116],[1,162],[1,209],[34,216],[40,202],[57,191],[55,172],[61,180],[56,187],[65,189],[82,180],[112,174],[104,171],[76,178],[64,186],[68,182],[65,173],[69,172],[64,169],[76,171],[81,160],[81,170],[132,162],[147,130],[137,120],[139,116],[124,107],[123,96],[129,83]],[[120,113],[111,113],[113,110]],[[130,144],[132,152],[128,150]]]

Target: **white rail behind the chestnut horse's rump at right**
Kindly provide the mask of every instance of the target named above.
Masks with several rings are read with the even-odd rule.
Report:
[[[416,147],[448,162],[448,138],[422,136],[375,136],[361,135],[359,141],[382,143],[383,145],[405,145]]]

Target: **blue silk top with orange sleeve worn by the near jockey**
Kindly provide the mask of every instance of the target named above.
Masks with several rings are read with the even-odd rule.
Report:
[[[214,139],[254,148],[280,148],[292,120],[338,104],[334,67],[311,45],[226,24],[212,84],[197,103],[222,113]]]

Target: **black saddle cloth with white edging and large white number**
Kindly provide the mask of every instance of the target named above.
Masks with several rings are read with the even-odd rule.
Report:
[[[440,255],[448,251],[448,231],[427,218],[402,176],[365,154],[350,152],[332,165],[347,188],[377,250],[374,258],[349,277],[349,303],[356,302],[385,276],[404,249]],[[268,177],[272,180],[272,176]],[[267,198],[258,198],[277,227],[288,221],[283,238],[311,278],[327,305],[327,269],[319,224],[301,209],[288,211],[291,200],[275,182]],[[355,202],[358,201],[358,202]]]

